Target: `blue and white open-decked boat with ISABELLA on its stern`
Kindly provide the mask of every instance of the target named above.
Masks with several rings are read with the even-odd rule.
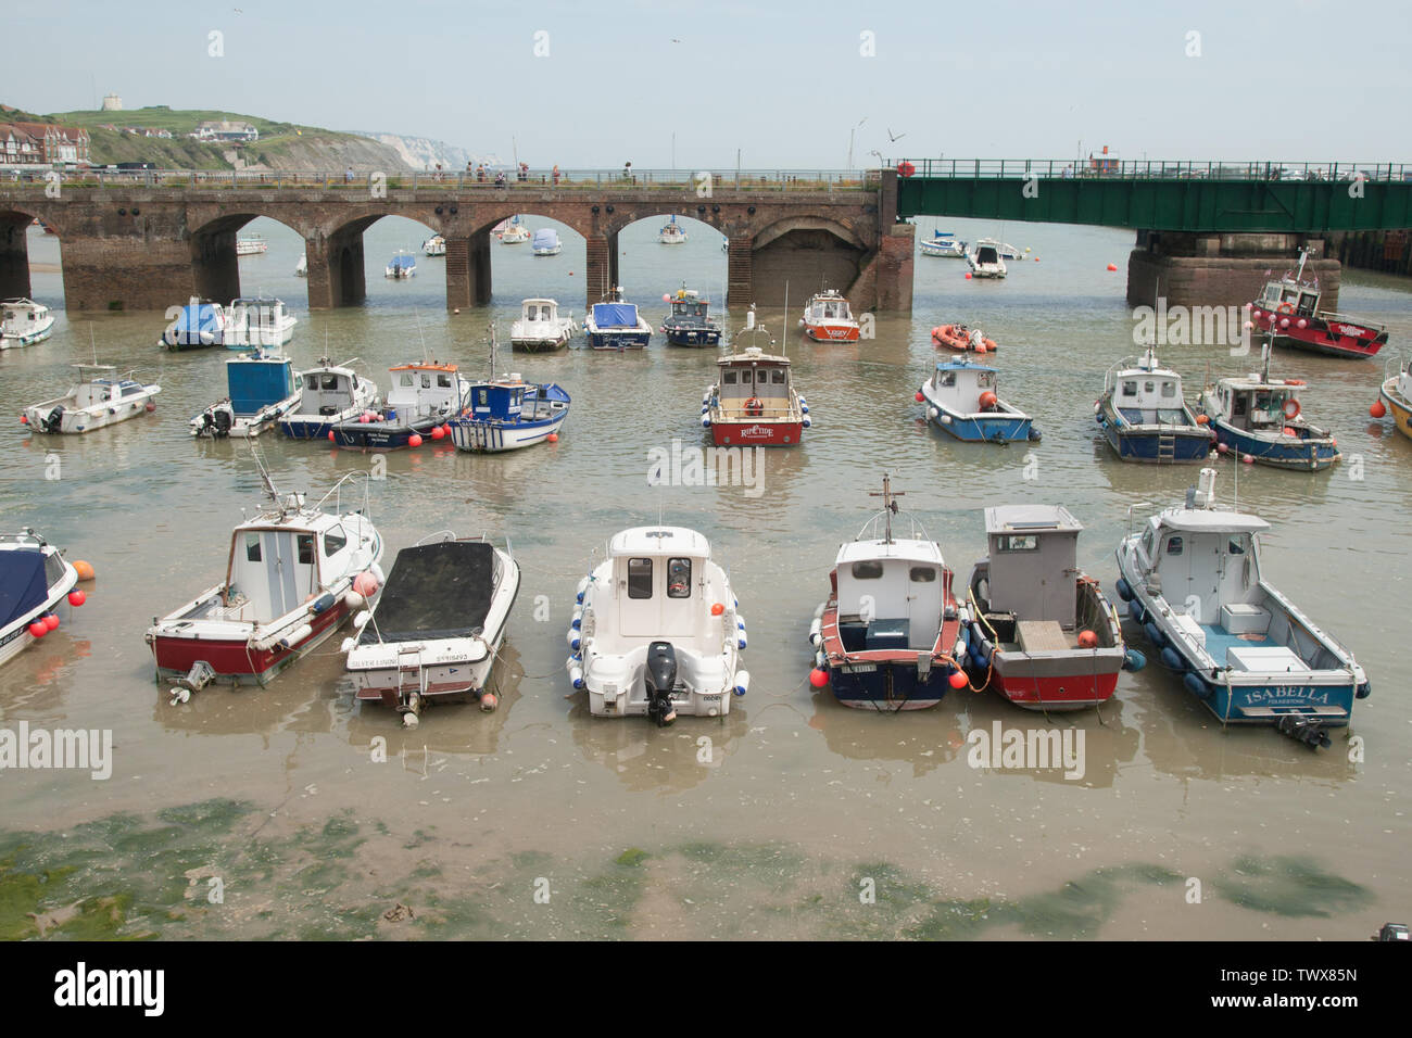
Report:
[[[1202,469],[1183,506],[1123,539],[1118,597],[1162,664],[1223,724],[1274,724],[1329,746],[1324,729],[1348,723],[1368,676],[1262,578],[1257,535],[1269,524],[1219,508],[1214,490],[1216,469]]]

